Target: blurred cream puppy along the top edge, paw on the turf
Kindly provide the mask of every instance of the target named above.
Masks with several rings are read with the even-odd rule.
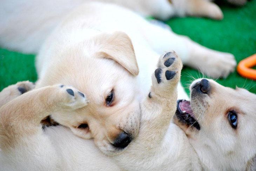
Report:
[[[173,16],[209,17],[215,20],[223,19],[223,13],[214,0],[99,0],[114,2],[128,7],[143,16],[154,16],[167,20]],[[234,5],[244,5],[247,0],[228,0]]]

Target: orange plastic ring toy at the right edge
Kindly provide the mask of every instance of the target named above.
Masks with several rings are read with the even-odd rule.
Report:
[[[256,65],[256,54],[241,60],[237,65],[237,72],[246,78],[256,80],[256,70],[251,67]]]

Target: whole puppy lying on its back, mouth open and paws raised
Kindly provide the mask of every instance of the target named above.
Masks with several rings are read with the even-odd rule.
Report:
[[[40,120],[50,111],[72,113],[86,107],[86,98],[75,88],[42,87],[8,102],[0,108],[2,169],[255,170],[256,95],[201,79],[191,84],[191,107],[188,101],[176,102],[181,67],[174,52],[160,57],[150,93],[140,103],[139,135],[112,156],[62,126],[42,131]]]

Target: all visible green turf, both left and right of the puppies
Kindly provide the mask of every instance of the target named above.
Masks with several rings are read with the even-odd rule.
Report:
[[[166,23],[174,32],[187,35],[192,40],[215,50],[230,52],[237,62],[256,53],[256,1],[250,1],[242,8],[225,3],[220,4],[224,13],[222,21],[193,17],[173,18]],[[36,81],[34,55],[0,49],[0,90],[17,81]],[[182,84],[187,85],[192,77],[202,77],[198,71],[184,67]],[[218,83],[230,87],[245,87],[256,93],[256,81],[244,79],[237,72],[227,79],[218,79]],[[187,89],[188,91],[188,89]]]

